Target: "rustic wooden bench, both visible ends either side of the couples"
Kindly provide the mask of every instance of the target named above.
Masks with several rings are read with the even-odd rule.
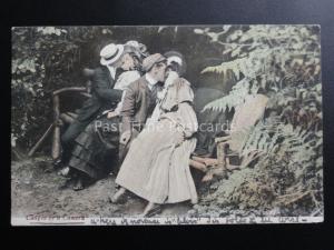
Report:
[[[90,78],[94,74],[94,70],[84,69],[84,76],[88,81],[86,87],[68,87],[56,90],[52,92],[53,103],[53,122],[48,127],[42,137],[31,148],[28,156],[32,157],[35,152],[40,148],[43,141],[49,134],[52,136],[52,159],[58,159],[61,151],[60,144],[60,128],[63,124],[73,122],[77,117],[76,112],[61,112],[60,110],[60,97],[63,93],[76,92],[84,97],[90,97]],[[193,156],[189,161],[189,166],[194,169],[205,172],[203,181],[209,181],[214,176],[225,176],[226,171],[233,171],[246,167],[258,157],[258,152],[253,152],[247,158],[240,159],[240,164],[235,166],[229,162],[229,158],[238,157],[240,154],[242,147],[247,138],[250,128],[263,117],[268,98],[264,94],[255,94],[246,98],[245,102],[236,107],[235,114],[232,120],[230,131],[225,131],[226,136],[215,139],[217,147],[217,158],[204,158]]]

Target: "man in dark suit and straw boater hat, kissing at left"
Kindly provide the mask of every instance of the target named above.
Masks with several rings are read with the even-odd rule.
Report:
[[[105,110],[114,109],[121,100],[121,90],[114,89],[121,58],[125,52],[122,44],[108,44],[100,52],[101,67],[95,69],[91,79],[91,98],[89,98],[78,112],[73,123],[61,136],[62,156],[55,161],[55,166],[62,166],[70,157],[70,149],[75,139]]]

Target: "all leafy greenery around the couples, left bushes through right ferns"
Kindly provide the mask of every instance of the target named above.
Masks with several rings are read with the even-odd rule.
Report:
[[[234,111],[252,93],[269,97],[265,118],[243,148],[263,157],[200,189],[190,214],[228,209],[279,214],[323,213],[323,130],[318,26],[32,27],[12,29],[13,151],[27,152],[52,122],[51,92],[84,86],[108,42],[138,40],[150,52],[176,49],[195,88],[226,94],[210,112]],[[68,98],[62,109],[80,107]],[[41,153],[49,153],[46,143]]]

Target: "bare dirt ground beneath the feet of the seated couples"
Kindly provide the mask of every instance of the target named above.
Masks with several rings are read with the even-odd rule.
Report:
[[[124,204],[111,204],[108,194],[116,190],[112,176],[78,192],[61,188],[66,179],[58,176],[50,160],[45,158],[12,162],[11,179],[12,217],[135,216],[146,204],[134,196],[129,196]],[[160,216],[180,216],[189,209],[188,203],[165,206]]]

